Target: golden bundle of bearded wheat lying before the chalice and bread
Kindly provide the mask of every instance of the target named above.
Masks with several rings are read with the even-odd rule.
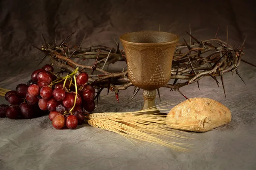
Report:
[[[185,144],[181,141],[192,139],[189,137],[192,133],[169,128],[166,125],[166,115],[147,115],[143,113],[154,110],[169,110],[161,109],[164,107],[166,106],[136,112],[93,113],[86,117],[90,126],[118,133],[128,140],[137,143],[145,141],[151,144],[169,147],[179,152],[187,152],[188,147],[192,145]],[[189,127],[189,124],[174,124],[173,126],[186,129],[186,127]]]

